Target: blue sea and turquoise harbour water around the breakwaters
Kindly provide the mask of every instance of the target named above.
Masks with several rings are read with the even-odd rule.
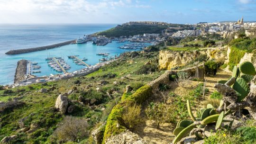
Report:
[[[84,35],[104,31],[117,24],[2,24],[0,25],[0,85],[13,84],[17,62],[25,59],[38,63],[41,68],[40,73],[33,73],[36,76],[49,76],[50,74],[61,74],[48,66],[47,57],[62,57],[67,64],[71,65],[68,72],[73,72],[84,68],[83,65],[73,63],[69,55],[79,55],[79,58],[87,58],[84,61],[87,64],[94,65],[99,63],[102,58],[97,53],[110,53],[110,55],[119,55],[121,53],[132,51],[118,48],[126,43],[117,43],[112,41],[104,46],[92,45],[91,42],[85,44],[70,44],[58,48],[25,53],[7,55],[9,50],[33,48],[39,46],[53,45],[69,40],[73,40]]]

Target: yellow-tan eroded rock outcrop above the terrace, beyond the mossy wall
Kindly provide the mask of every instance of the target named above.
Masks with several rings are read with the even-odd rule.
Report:
[[[220,47],[191,52],[163,50],[159,52],[159,68],[170,70],[177,66],[183,66],[202,54],[206,54],[210,59],[226,58],[226,49],[227,47]]]

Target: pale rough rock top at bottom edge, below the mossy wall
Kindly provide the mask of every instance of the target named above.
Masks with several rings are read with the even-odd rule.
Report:
[[[119,134],[111,136],[105,144],[152,144],[144,141],[139,135],[130,132],[129,130]]]

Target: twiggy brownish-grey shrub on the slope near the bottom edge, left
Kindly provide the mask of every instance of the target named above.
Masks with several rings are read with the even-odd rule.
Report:
[[[54,137],[59,142],[76,141],[89,136],[88,123],[84,118],[66,116],[59,126]]]

